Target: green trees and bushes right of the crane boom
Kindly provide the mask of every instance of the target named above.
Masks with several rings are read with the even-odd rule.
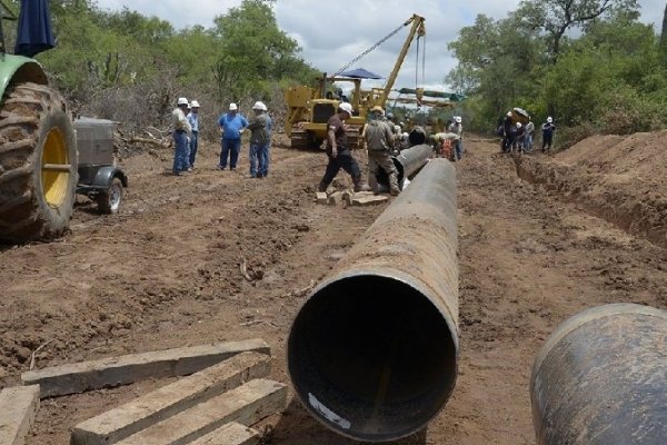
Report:
[[[478,16],[449,47],[459,63],[447,80],[470,97],[472,130],[512,107],[554,116],[566,145],[667,127],[666,58],[635,0],[522,1],[502,20]]]

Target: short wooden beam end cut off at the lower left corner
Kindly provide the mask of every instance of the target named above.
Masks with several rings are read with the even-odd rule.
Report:
[[[39,409],[39,386],[0,392],[0,445],[23,445]]]

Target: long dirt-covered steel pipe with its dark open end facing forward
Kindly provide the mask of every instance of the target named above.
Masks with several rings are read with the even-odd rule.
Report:
[[[397,439],[426,426],[449,398],[458,356],[456,216],[455,168],[432,159],[299,309],[288,340],[291,380],[335,432]]]

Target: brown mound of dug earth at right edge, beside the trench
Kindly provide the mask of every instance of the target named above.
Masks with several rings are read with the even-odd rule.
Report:
[[[549,160],[517,159],[517,172],[616,224],[667,246],[666,132],[595,136]]]

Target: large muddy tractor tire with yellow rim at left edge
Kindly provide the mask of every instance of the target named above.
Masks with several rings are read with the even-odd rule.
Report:
[[[10,86],[0,108],[0,240],[61,235],[72,216],[77,139],[59,92],[32,82]]]

